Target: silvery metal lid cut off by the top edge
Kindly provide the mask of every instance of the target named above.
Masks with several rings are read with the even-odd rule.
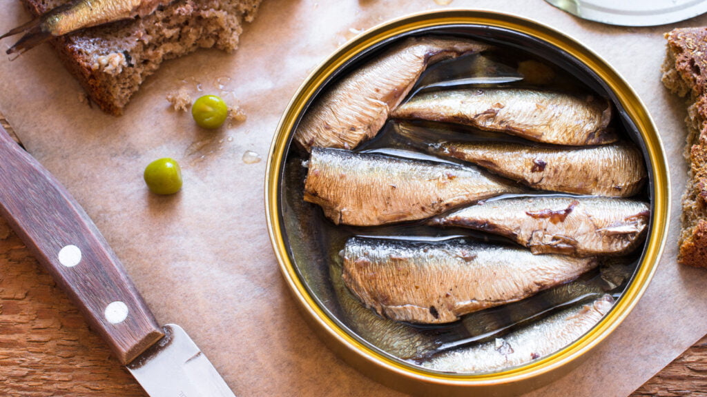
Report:
[[[586,20],[620,26],[657,26],[707,12],[704,0],[545,0]]]

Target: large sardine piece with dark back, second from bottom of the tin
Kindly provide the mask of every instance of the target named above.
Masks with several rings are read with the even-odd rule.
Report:
[[[344,283],[381,316],[444,324],[522,300],[595,268],[595,258],[533,256],[481,242],[407,242],[354,237],[344,247]]]

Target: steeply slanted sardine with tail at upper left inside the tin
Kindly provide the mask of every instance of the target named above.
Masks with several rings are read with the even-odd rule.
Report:
[[[487,48],[454,37],[409,37],[329,88],[305,113],[295,139],[307,150],[356,148],[378,134],[428,65]]]

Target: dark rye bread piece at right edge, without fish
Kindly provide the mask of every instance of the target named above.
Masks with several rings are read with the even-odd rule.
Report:
[[[678,261],[707,267],[707,28],[668,32],[662,83],[687,97],[685,158],[689,180],[682,196],[682,233]]]

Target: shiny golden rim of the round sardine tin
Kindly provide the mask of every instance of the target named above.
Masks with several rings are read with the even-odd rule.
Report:
[[[626,288],[621,299],[614,304],[613,309],[585,336],[575,340],[574,343],[559,352],[522,367],[491,374],[444,374],[411,367],[382,355],[349,335],[318,306],[300,280],[291,258],[288,256],[280,219],[279,184],[291,131],[293,131],[298,115],[302,112],[309,98],[315,94],[317,87],[363,49],[404,33],[452,25],[484,25],[520,32],[547,42],[585,64],[607,84],[609,90],[613,91],[617,101],[624,107],[627,116],[636,124],[645,144],[645,154],[648,157],[649,172],[653,182],[651,186],[653,196],[651,222],[653,225],[647,237],[643,259],[634,275],[633,283]],[[604,59],[571,37],[532,20],[495,11],[450,9],[415,13],[382,23],[358,35],[358,37],[354,37],[353,40],[340,47],[310,74],[288,104],[271,143],[265,184],[265,209],[271,244],[284,278],[301,308],[305,311],[305,315],[309,317],[309,320],[315,322],[315,328],[324,331],[327,340],[334,341],[335,345],[331,347],[339,353],[350,354],[353,352],[354,355],[361,356],[356,357],[358,362],[368,362],[378,369],[385,369],[390,374],[434,385],[493,386],[508,384],[532,379],[575,361],[619,326],[645,292],[650,279],[653,278],[665,246],[668,219],[670,218],[670,180],[665,150],[650,114],[629,84]],[[399,383],[399,377],[392,380],[392,386],[397,386]]]

